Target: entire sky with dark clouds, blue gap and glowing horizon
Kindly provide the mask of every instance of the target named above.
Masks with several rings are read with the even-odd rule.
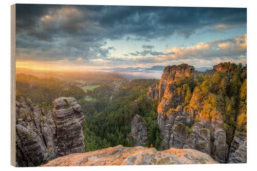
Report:
[[[246,64],[246,8],[16,5],[16,67]]]

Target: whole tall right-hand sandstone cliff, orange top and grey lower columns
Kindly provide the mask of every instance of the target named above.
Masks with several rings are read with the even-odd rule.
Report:
[[[214,66],[222,70],[226,65]],[[226,163],[228,145],[226,144],[226,131],[223,128],[223,117],[216,113],[212,118],[205,118],[201,109],[195,110],[191,106],[181,107],[185,99],[181,98],[175,90],[176,81],[185,74],[189,77],[194,73],[194,67],[187,64],[167,66],[163,70],[158,86],[158,126],[163,138],[160,149],[192,148],[210,155],[219,163]],[[149,95],[155,90],[150,88]],[[196,91],[195,91],[196,92]],[[154,99],[155,96],[148,96]],[[200,106],[201,102],[193,94],[194,104]],[[194,121],[194,122],[193,122]]]

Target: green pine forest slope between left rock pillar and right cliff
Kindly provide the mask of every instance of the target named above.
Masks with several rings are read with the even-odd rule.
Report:
[[[155,79],[136,79],[128,82],[115,94],[111,103],[97,115],[88,115],[85,110],[85,151],[110,146],[132,146],[126,135],[131,132],[131,121],[140,115],[146,121],[149,144],[158,148],[161,142],[157,125],[157,100],[146,99],[149,86],[157,84]],[[82,105],[83,107],[83,105]]]

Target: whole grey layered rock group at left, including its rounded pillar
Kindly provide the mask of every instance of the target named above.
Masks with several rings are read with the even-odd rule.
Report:
[[[54,101],[53,112],[16,99],[16,166],[38,166],[54,157],[84,152],[82,108],[74,98]]]

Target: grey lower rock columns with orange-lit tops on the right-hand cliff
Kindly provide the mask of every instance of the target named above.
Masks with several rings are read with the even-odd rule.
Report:
[[[158,106],[158,126],[163,141],[162,149],[192,148],[206,153],[219,163],[226,162],[226,132],[219,113],[211,119],[201,116],[193,107],[166,105],[165,95]],[[199,120],[196,122],[196,116]],[[194,124],[193,120],[195,120]],[[189,128],[191,126],[191,128]]]

